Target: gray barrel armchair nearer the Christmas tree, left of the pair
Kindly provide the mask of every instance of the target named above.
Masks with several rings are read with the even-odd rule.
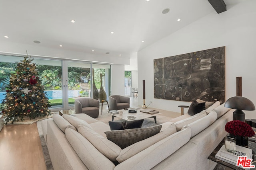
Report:
[[[76,98],[75,113],[85,113],[90,117],[96,118],[99,116],[100,102],[93,98]]]

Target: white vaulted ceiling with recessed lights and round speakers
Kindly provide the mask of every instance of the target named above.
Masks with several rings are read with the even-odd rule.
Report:
[[[243,1],[224,0],[227,6]],[[0,0],[0,42],[36,40],[42,47],[133,58],[212,12],[208,0]]]

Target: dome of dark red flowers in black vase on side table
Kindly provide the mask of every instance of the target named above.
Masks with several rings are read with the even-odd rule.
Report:
[[[225,125],[225,131],[233,135],[252,137],[255,133],[252,127],[240,120],[232,120]]]

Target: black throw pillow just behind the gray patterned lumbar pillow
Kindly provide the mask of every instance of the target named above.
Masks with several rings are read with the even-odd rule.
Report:
[[[124,130],[124,129],[134,129],[141,128],[144,119],[133,120],[133,121],[109,121],[110,130]]]

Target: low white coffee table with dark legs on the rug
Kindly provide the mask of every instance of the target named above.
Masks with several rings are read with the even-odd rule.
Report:
[[[127,121],[140,120],[140,119],[145,119],[145,118],[148,118],[148,117],[152,117],[152,118],[154,118],[155,123],[156,123],[156,115],[161,114],[161,113],[156,113],[156,114],[151,115],[151,114],[148,114],[148,113],[142,113],[142,112],[140,112],[140,109],[137,110],[137,113],[129,113],[128,110],[124,110],[124,109],[121,109],[121,110],[118,110],[118,111],[123,111],[123,114],[120,115],[120,114],[108,113],[108,114],[112,115],[112,121],[114,121],[114,117],[119,117],[119,118],[127,120]],[[135,119],[129,119],[127,116],[134,116],[136,118]]]

